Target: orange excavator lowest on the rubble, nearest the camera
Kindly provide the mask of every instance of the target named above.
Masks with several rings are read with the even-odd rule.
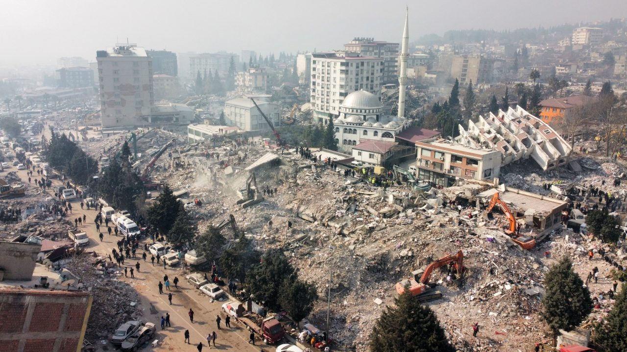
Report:
[[[423,302],[441,298],[442,293],[440,291],[431,291],[431,286],[429,286],[431,273],[435,269],[438,269],[438,267],[450,264],[452,269],[457,272],[457,277],[461,278],[464,272],[463,258],[463,252],[458,251],[456,254],[448,254],[447,256],[441,257],[424,269],[412,271],[411,278],[396,283],[396,292],[403,294],[406,289],[409,289],[411,296]]]

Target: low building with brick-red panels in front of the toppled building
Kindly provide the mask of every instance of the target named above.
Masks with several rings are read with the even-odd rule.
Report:
[[[501,153],[434,138],[416,142],[418,179],[450,187],[457,178],[490,181],[498,177]]]

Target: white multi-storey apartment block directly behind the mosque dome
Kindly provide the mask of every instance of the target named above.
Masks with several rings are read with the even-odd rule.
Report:
[[[317,122],[339,116],[340,103],[353,91],[369,91],[381,98],[381,58],[342,51],[312,53],[311,70],[310,101]]]

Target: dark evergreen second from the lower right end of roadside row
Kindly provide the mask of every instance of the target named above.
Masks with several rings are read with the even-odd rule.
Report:
[[[246,273],[245,287],[256,300],[278,311],[278,297],[283,281],[294,274],[294,268],[282,249],[271,249],[263,255],[261,264]]]

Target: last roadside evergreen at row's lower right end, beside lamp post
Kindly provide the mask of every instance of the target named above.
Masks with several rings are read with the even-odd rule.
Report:
[[[314,302],[318,299],[315,286],[292,276],[283,280],[278,297],[278,303],[294,319],[296,326],[307,318],[314,309]]]

